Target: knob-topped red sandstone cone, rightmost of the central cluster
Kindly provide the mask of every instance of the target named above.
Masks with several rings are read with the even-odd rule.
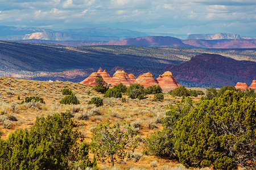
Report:
[[[164,74],[159,75],[156,80],[158,80],[158,85],[161,88],[173,90],[180,86],[179,82],[177,82],[177,80],[174,78],[174,75],[172,75],[170,71],[166,71]]]

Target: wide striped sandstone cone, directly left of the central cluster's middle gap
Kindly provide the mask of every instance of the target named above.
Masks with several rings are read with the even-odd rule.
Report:
[[[130,86],[133,84],[133,80],[130,79],[129,75],[123,70],[117,70],[113,75],[113,78],[110,80],[109,84],[115,86],[119,83],[122,83],[125,86]]]

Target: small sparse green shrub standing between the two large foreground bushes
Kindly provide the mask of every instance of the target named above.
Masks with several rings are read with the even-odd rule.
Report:
[[[125,158],[127,150],[134,151],[137,147],[136,133],[131,129],[130,124],[114,124],[110,126],[109,121],[99,124],[93,131],[92,152],[103,162],[110,159],[114,166],[115,158]]]

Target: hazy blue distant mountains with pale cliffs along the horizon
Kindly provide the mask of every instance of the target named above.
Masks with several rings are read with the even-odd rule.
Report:
[[[188,36],[171,33],[144,33],[106,27],[53,31],[43,28],[0,26],[0,40],[67,46],[134,45],[174,48],[256,48],[255,37],[242,37],[233,33],[191,34]]]

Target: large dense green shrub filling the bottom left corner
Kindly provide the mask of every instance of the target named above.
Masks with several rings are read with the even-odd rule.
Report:
[[[64,112],[36,118],[30,131],[16,130],[0,140],[0,169],[69,169],[69,162],[96,166],[88,158],[89,146],[73,130],[71,117],[71,112]]]

